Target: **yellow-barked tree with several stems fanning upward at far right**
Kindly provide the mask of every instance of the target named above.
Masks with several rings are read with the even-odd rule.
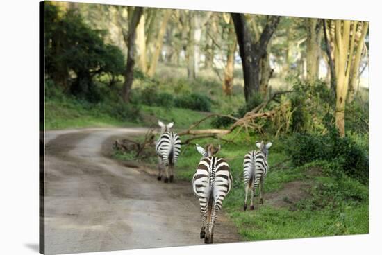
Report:
[[[331,21],[334,23],[334,66],[335,66],[335,126],[340,136],[345,135],[345,104],[349,89],[349,79],[351,73],[358,75],[359,64],[358,54],[362,51],[364,40],[369,24],[358,21]],[[354,53],[357,27],[361,27],[358,39],[358,46]]]

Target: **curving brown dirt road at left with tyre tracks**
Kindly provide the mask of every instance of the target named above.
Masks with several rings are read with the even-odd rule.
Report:
[[[102,145],[144,128],[47,132],[47,254],[201,245],[199,206],[188,183],[164,184],[103,156]],[[222,213],[215,243],[239,240]]]

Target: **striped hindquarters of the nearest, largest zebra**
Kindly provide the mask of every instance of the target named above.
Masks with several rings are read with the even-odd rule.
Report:
[[[232,176],[229,165],[224,159],[206,157],[199,162],[197,172],[192,179],[192,188],[199,198],[201,211],[206,211],[210,202],[215,202],[215,206],[221,209],[224,197],[231,187]]]

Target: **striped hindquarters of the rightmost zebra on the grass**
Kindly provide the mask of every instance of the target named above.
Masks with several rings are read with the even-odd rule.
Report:
[[[268,163],[262,151],[251,150],[244,157],[244,184],[258,186],[261,177],[265,177],[268,171]]]

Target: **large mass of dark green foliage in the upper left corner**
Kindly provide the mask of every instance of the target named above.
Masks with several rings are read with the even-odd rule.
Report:
[[[76,10],[60,13],[45,5],[45,73],[73,95],[93,103],[101,100],[94,76],[115,77],[124,71],[124,57],[104,42],[105,31],[93,30]]]

